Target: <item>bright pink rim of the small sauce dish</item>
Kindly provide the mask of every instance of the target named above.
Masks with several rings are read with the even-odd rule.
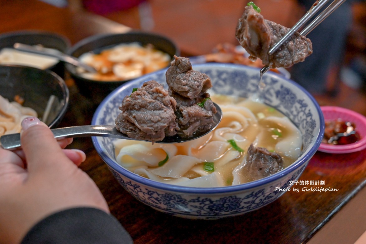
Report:
[[[357,113],[356,111],[338,106],[321,106],[320,108],[324,112],[336,111],[342,114],[347,114],[350,117],[358,119],[366,126],[366,117],[360,113]],[[324,120],[326,121],[326,118],[324,118]],[[366,148],[366,137],[363,137],[359,141],[346,145],[332,145],[332,144],[321,143],[318,150],[320,152],[326,152],[326,153],[352,153],[361,151],[365,148]]]

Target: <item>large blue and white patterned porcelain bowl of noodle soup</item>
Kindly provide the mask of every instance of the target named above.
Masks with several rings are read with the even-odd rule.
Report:
[[[193,68],[206,73],[216,94],[248,97],[257,91],[259,69],[234,64],[199,64]],[[121,85],[97,108],[93,125],[114,125],[119,106],[132,88],[148,80],[166,84],[166,70],[160,70]],[[93,144],[118,182],[142,203],[164,213],[191,219],[218,219],[257,210],[279,198],[298,179],[317,151],[324,135],[324,118],[315,99],[302,87],[283,76],[267,72],[262,98],[294,122],[303,136],[303,152],[298,160],[276,174],[235,186],[197,188],[156,182],[143,178],[116,162],[113,138],[93,137]]]

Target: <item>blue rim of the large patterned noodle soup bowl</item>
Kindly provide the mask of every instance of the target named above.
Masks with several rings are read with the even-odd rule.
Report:
[[[206,64],[193,65],[194,68],[195,67],[207,67],[207,66],[220,66],[222,68],[225,68],[225,67],[243,68],[243,66],[244,66],[247,69],[258,70],[258,72],[260,70],[259,68],[256,68],[256,67],[250,67],[250,66],[239,65],[239,64],[206,63]],[[153,73],[166,72],[166,70],[167,69],[158,70],[158,71],[153,72]],[[100,103],[100,105],[97,107],[96,111],[94,112],[91,124],[92,125],[96,124],[97,114],[100,113],[100,110],[102,109],[102,107],[104,107],[104,104],[107,103],[108,100],[112,96],[114,96],[115,94],[121,92],[126,85],[132,83],[133,81],[146,79],[145,78],[146,76],[152,75],[153,73],[146,74],[146,75],[141,76],[137,79],[128,81],[128,82],[120,85],[113,92],[111,92],[111,94],[109,94]],[[122,175],[126,176],[127,178],[134,180],[135,182],[138,182],[138,183],[141,183],[141,184],[144,184],[146,186],[156,188],[156,189],[159,189],[159,190],[173,191],[173,192],[179,192],[179,193],[185,193],[185,194],[190,193],[190,194],[208,195],[208,194],[221,194],[221,193],[228,193],[228,192],[239,192],[239,191],[243,191],[243,190],[249,190],[249,189],[254,189],[254,188],[258,188],[258,187],[264,187],[265,185],[270,184],[272,182],[275,182],[276,180],[279,180],[279,179],[283,178],[288,173],[290,173],[292,171],[295,171],[295,170],[299,169],[300,167],[306,165],[309,162],[310,158],[315,154],[315,152],[317,152],[317,149],[318,149],[318,147],[321,143],[321,140],[324,136],[324,117],[323,117],[322,111],[320,109],[320,106],[316,102],[315,98],[305,88],[300,86],[295,81],[292,81],[292,80],[290,80],[290,79],[288,79],[284,76],[281,76],[281,75],[279,75],[275,72],[269,71],[267,73],[268,73],[268,75],[278,76],[278,77],[280,77],[280,79],[284,79],[287,82],[291,83],[292,85],[298,87],[300,90],[302,90],[302,92],[304,92],[309,97],[311,102],[313,102],[313,104],[316,108],[316,112],[319,116],[319,123],[320,123],[320,130],[319,130],[317,138],[314,138],[313,147],[305,155],[302,155],[301,159],[296,160],[294,163],[292,163],[288,167],[284,168],[280,172],[277,172],[276,174],[273,174],[271,176],[268,176],[268,177],[265,177],[265,178],[262,178],[262,179],[259,179],[259,180],[255,180],[253,182],[238,184],[238,185],[234,185],[234,186],[223,186],[223,187],[212,187],[212,188],[178,186],[178,185],[161,183],[161,182],[157,182],[157,181],[154,181],[154,180],[151,180],[151,179],[147,179],[147,178],[144,178],[144,177],[139,176],[137,174],[134,174],[133,172],[129,171],[128,169],[123,168],[117,162],[110,159],[108,157],[108,155],[106,155],[104,153],[101,146],[98,144],[97,137],[92,137],[91,138],[92,142],[93,142],[93,145],[94,145],[94,148],[96,149],[96,151],[100,155],[100,157],[105,161],[105,163],[107,163],[107,165],[109,167],[113,168],[113,170],[115,170],[119,174],[122,174]]]

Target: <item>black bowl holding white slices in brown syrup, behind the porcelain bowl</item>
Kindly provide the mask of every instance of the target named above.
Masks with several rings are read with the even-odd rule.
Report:
[[[115,45],[131,42],[138,42],[142,46],[152,44],[157,50],[168,53],[172,60],[174,55],[179,56],[180,54],[179,48],[170,39],[161,35],[145,32],[128,32],[121,34],[103,34],[91,36],[76,43],[68,51],[68,54],[78,58],[87,52],[100,53],[102,50],[111,48]],[[76,72],[75,66],[73,65],[66,64],[66,69],[68,72],[70,72],[71,77],[74,79],[80,93],[93,100],[93,102],[96,104],[99,104],[114,89],[128,81],[91,80],[79,75]]]

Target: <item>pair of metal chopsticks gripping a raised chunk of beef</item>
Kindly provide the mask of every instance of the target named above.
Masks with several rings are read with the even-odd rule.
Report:
[[[278,41],[268,52],[268,54],[272,55],[275,53],[280,46],[282,46],[296,31],[298,31],[310,18],[312,18],[329,0],[319,1],[317,5],[313,5],[309,11]],[[308,26],[306,26],[301,32],[300,35],[306,36],[310,33],[310,31],[314,30],[315,27],[318,26],[326,17],[332,14],[342,3],[346,0],[335,0],[331,3],[320,15],[317,16]],[[267,70],[269,70],[269,66],[265,65],[260,72],[263,74]]]

